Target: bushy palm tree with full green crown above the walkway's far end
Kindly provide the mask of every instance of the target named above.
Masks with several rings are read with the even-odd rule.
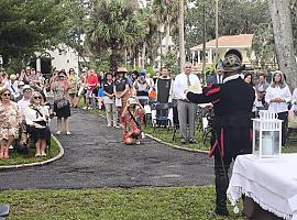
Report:
[[[87,22],[87,41],[92,53],[110,50],[110,70],[118,68],[123,48],[144,37],[144,24],[136,20],[138,1],[92,0]]]

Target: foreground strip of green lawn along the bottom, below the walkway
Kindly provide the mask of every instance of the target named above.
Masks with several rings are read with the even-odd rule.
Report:
[[[80,190],[7,190],[0,204],[11,205],[10,220],[243,220],[209,218],[215,187],[163,187]]]

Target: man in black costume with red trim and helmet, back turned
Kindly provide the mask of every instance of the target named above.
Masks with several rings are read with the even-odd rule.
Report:
[[[202,94],[188,91],[187,98],[195,103],[213,105],[213,131],[209,156],[215,155],[216,215],[229,216],[227,209],[228,169],[240,154],[252,153],[252,107],[254,89],[241,77],[242,55],[237,50],[226,53],[222,63],[223,84],[209,85]]]

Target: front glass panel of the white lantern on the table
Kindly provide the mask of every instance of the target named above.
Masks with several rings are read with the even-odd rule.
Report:
[[[262,155],[278,155],[279,154],[279,132],[263,131],[262,133]]]

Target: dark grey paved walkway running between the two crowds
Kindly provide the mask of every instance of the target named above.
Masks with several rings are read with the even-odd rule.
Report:
[[[52,130],[55,132],[55,121]],[[45,166],[0,170],[0,189],[193,186],[213,183],[212,160],[145,138],[122,144],[122,131],[101,117],[73,110],[73,135],[61,135],[65,156]]]

